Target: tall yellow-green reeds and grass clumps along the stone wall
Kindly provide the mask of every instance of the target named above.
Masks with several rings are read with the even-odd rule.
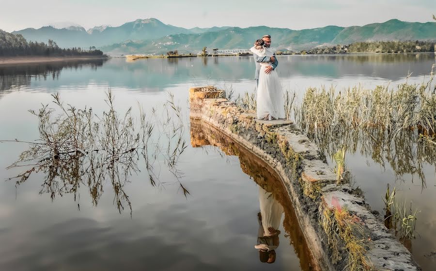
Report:
[[[420,84],[405,82],[396,87],[377,86],[372,90],[356,85],[344,90],[334,87],[308,88],[300,104],[295,103],[295,93],[284,93],[286,118],[294,112],[296,126],[315,141],[323,153],[336,163],[338,183],[350,183],[352,175],[347,170],[345,153],[360,153],[371,157],[383,169],[391,168],[396,180],[403,176],[418,177],[421,189],[426,188],[425,164],[436,164],[436,86],[434,73]],[[242,109],[255,110],[255,94],[246,92],[238,96],[236,104]],[[385,224],[405,245],[415,238],[418,210],[411,203],[395,198],[389,188],[384,199]],[[338,217],[337,210],[320,209],[320,223],[328,236],[333,229],[342,236],[329,240],[333,246],[342,239],[349,245],[348,269],[369,268],[365,258],[365,244],[354,235]],[[351,214],[349,214],[351,215]],[[355,223],[347,219],[350,225]],[[340,229],[337,225],[345,225]],[[354,237],[353,237],[354,238]],[[407,245],[406,245],[407,247]],[[339,260],[338,251],[336,251]]]

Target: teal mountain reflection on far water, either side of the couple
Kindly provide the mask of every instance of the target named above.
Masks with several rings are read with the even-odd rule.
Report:
[[[367,55],[293,55],[279,56],[278,73],[281,79],[301,77],[377,77],[400,80],[428,75],[435,55],[430,54],[367,54]],[[105,67],[112,67],[109,63]],[[118,66],[118,64],[117,64]],[[146,59],[130,63],[129,73],[121,83],[131,87],[147,86],[163,89],[168,85],[199,80],[238,81],[254,78],[252,57],[211,57],[182,59]],[[140,76],[138,76],[140,75]],[[106,76],[109,80],[114,77]],[[132,85],[135,82],[136,85]]]

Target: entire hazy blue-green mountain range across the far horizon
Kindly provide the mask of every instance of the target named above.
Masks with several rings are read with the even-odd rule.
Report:
[[[118,27],[97,26],[88,31],[80,26],[63,29],[47,26],[13,33],[23,35],[28,41],[47,42],[48,39],[52,39],[60,47],[95,46],[111,54],[165,54],[171,50],[197,53],[204,46],[219,49],[249,48],[254,40],[267,33],[272,36],[275,48],[298,51],[320,45],[359,41],[436,40],[436,23],[391,19],[364,26],[326,26],[304,30],[266,26],[186,29],[149,18],[127,22]]]

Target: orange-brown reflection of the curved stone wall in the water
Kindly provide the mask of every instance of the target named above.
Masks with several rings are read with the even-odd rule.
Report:
[[[200,120],[191,119],[190,121],[191,145],[193,147],[213,145],[219,147],[226,155],[237,156],[242,171],[251,176],[265,191],[271,192],[274,199],[283,207],[285,236],[289,238],[290,244],[294,247],[301,270],[320,271],[321,269],[315,264],[313,255],[311,255],[304,234],[298,224],[294,206],[280,175],[264,160],[220,132],[217,128]]]

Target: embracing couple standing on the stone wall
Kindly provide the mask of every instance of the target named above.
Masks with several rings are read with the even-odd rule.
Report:
[[[271,36],[265,35],[256,40],[250,48],[256,62],[257,81],[256,111],[258,119],[276,120],[285,118],[283,93],[277,75],[276,55],[269,47]]]

